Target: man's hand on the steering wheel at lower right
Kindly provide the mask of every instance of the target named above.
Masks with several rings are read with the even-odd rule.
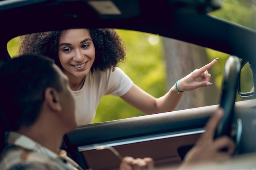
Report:
[[[234,153],[235,143],[232,139],[227,136],[214,139],[214,134],[222,115],[223,109],[218,108],[209,119],[206,124],[205,132],[199,137],[195,146],[186,154],[184,162],[182,163],[183,168],[207,161],[224,160]],[[227,149],[222,151],[222,148]]]

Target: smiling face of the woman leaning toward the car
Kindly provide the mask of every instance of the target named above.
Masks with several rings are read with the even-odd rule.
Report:
[[[95,48],[89,31],[66,30],[59,39],[58,57],[63,72],[70,79],[87,75],[95,59]]]

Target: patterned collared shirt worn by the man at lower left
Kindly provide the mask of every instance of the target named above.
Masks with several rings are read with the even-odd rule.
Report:
[[[82,170],[65,150],[59,155],[17,132],[9,132],[0,170]]]

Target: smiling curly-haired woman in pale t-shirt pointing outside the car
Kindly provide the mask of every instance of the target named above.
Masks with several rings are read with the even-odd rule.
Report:
[[[162,97],[155,98],[133,84],[118,68],[124,61],[124,46],[113,29],[68,29],[24,35],[20,38],[18,55],[42,54],[54,58],[69,78],[76,99],[78,125],[90,124],[103,95],[121,97],[146,114],[173,111],[182,92],[211,86],[207,69],[213,60],[178,80]],[[202,77],[202,82],[197,82]]]

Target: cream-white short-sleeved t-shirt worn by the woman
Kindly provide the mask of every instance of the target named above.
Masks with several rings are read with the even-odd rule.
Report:
[[[103,95],[122,96],[132,87],[133,82],[124,71],[94,71],[86,75],[83,87],[73,91],[76,100],[77,125],[90,124],[96,114],[96,109]]]

